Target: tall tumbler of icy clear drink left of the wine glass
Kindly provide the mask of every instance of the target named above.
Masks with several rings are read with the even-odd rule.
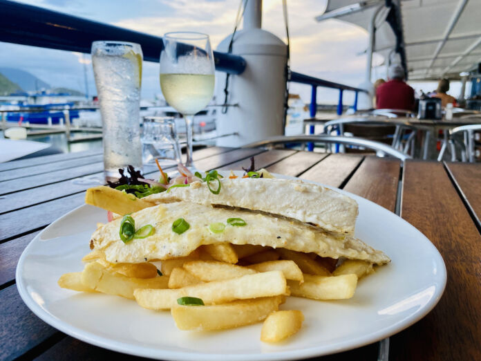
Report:
[[[102,114],[104,175],[120,178],[119,168],[142,169],[140,86],[142,49],[121,41],[94,41],[92,62]]]

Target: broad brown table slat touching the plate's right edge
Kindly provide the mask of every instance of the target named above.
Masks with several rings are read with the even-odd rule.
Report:
[[[448,281],[426,317],[390,337],[390,361],[481,360],[481,236],[442,163],[404,165],[402,217],[442,254]]]

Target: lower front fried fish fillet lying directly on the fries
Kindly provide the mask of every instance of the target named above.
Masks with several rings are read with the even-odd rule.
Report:
[[[123,243],[119,235],[121,219],[97,228],[92,235],[91,247],[104,251],[107,261],[138,263],[172,259],[187,256],[205,244],[225,242],[315,252],[321,257],[346,257],[377,264],[390,261],[386,254],[354,237],[271,214],[180,201],[145,208],[131,216],[135,220],[135,230],[150,224],[155,233]],[[182,234],[172,230],[173,221],[179,218],[189,223],[189,229]],[[229,225],[229,218],[241,218],[246,225]],[[224,223],[225,230],[213,233],[209,224],[217,222]]]

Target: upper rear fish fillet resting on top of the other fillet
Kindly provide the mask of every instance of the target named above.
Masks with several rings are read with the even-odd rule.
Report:
[[[220,183],[219,194],[210,192],[205,182],[194,182],[189,187],[172,188],[144,200],[157,204],[189,201],[229,205],[279,214],[332,232],[354,233],[356,201],[326,187],[280,178],[223,178]],[[211,187],[216,188],[217,184],[212,182]]]

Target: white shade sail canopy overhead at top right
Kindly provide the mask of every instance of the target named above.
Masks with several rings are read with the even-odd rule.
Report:
[[[402,17],[404,49],[410,80],[456,79],[464,71],[472,71],[481,62],[480,0],[404,0],[392,1]],[[375,1],[329,0],[326,13],[357,3],[368,3],[359,12],[341,15],[368,30],[377,6]],[[395,48],[396,37],[381,11],[377,17],[375,52],[388,59]]]

